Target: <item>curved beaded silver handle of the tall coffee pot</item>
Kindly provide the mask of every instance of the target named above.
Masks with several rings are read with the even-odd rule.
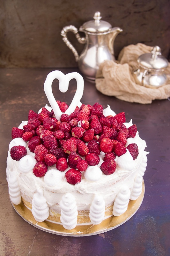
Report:
[[[85,44],[86,43],[86,39],[85,37],[80,37],[80,35],[78,34],[78,29],[76,27],[74,27],[73,25],[70,26],[65,26],[62,31],[61,31],[61,36],[63,36],[63,41],[64,43],[69,47],[69,49],[73,52],[76,61],[78,61],[79,56],[78,56],[78,52],[76,51],[75,47],[70,43],[70,41],[67,38],[67,33],[68,32],[73,32],[78,40],[78,42],[80,44]]]

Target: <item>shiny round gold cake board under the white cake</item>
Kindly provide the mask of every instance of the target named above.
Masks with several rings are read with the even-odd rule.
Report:
[[[48,220],[37,222],[32,212],[26,208],[23,202],[16,205],[11,202],[13,205],[15,211],[28,223],[33,225],[36,228],[39,228],[41,230],[44,230],[48,233],[61,235],[61,236],[92,236],[97,235],[100,233],[104,233],[106,231],[112,230],[114,228],[119,227],[123,223],[125,223],[127,220],[129,220],[139,209],[139,207],[142,204],[144,198],[144,180],[143,180],[143,186],[142,186],[142,193],[137,198],[137,200],[130,200],[128,204],[128,209],[125,213],[123,213],[121,216],[111,216],[107,218],[106,220],[103,220],[98,225],[78,225],[76,228],[67,230],[63,228],[63,225],[50,222]]]

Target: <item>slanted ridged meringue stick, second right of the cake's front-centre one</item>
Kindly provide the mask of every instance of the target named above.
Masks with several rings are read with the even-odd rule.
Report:
[[[128,186],[124,186],[121,188],[120,192],[117,194],[115,198],[115,202],[113,205],[113,215],[120,216],[122,213],[126,212],[130,199],[130,189]]]

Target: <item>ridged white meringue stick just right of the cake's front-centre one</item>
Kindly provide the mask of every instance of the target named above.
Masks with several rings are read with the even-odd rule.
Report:
[[[95,195],[89,212],[92,224],[100,224],[105,217],[105,201],[102,196]]]

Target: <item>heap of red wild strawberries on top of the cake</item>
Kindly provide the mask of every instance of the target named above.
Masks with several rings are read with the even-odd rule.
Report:
[[[136,125],[129,128],[123,124],[125,113],[116,116],[103,115],[103,107],[99,103],[76,107],[71,115],[64,114],[68,105],[57,101],[63,112],[60,121],[55,118],[53,110],[49,112],[42,108],[37,114],[29,111],[28,124],[23,129],[12,128],[12,139],[22,138],[28,143],[28,148],[35,153],[37,163],[33,168],[36,177],[43,177],[48,166],[56,166],[56,169],[66,172],[67,182],[75,185],[81,181],[81,172],[88,165],[98,165],[100,152],[104,152],[104,162],[100,169],[105,175],[112,174],[116,170],[116,156],[126,153],[126,141],[129,137],[135,137]],[[127,146],[135,160],[138,156],[137,144]],[[11,148],[11,157],[20,160],[26,155],[24,146]]]

